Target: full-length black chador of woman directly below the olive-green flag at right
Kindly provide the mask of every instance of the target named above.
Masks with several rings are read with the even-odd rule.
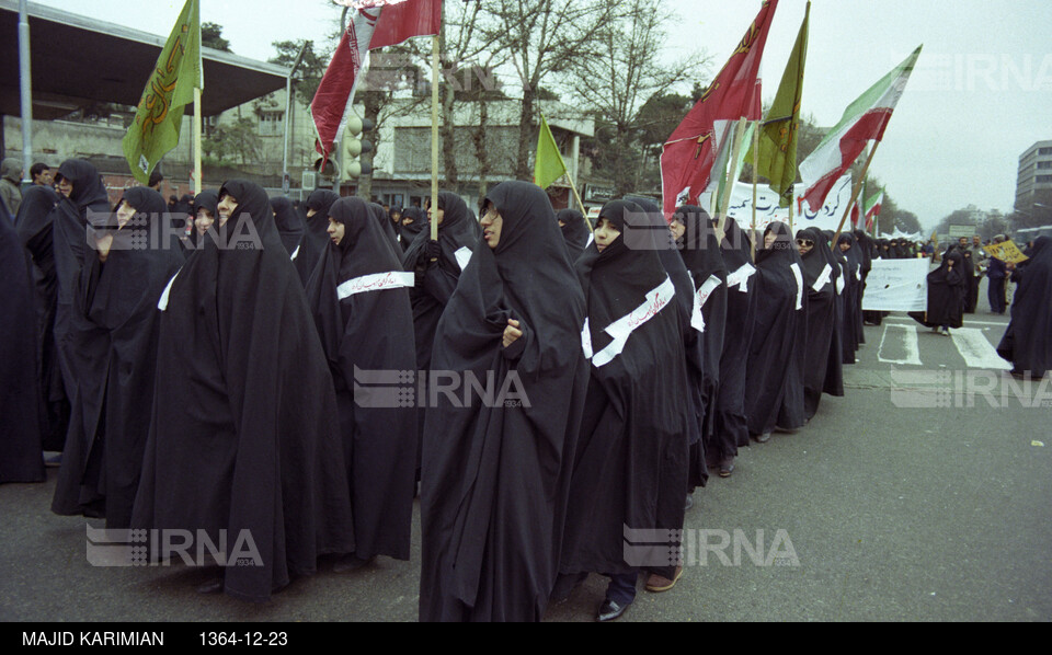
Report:
[[[777,234],[770,248],[756,251],[756,319],[746,369],[745,413],[753,435],[788,429],[807,423],[803,409],[803,370],[807,355],[807,294],[792,266],[802,262],[789,226],[773,222]],[[800,308],[797,308],[798,296]]]

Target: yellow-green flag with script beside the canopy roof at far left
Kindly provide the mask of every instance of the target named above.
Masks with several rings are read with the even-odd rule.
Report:
[[[183,110],[194,101],[194,89],[204,88],[199,14],[198,0],[186,0],[142,90],[135,123],[124,135],[124,157],[142,184],[149,182],[157,162],[179,143]]]

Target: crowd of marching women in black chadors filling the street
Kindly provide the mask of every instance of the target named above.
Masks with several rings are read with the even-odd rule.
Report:
[[[710,471],[843,395],[882,318],[862,311],[872,261],[916,255],[781,222],[754,242],[638,196],[590,223],[525,182],[490,188],[478,218],[449,192],[385,210],[243,180],[111,207],[82,160],[55,182],[0,219],[0,482],[45,480],[58,450],[57,514],[213,543],[247,530],[260,565],[199,590],[254,601],[321,555],[408,560],[419,494],[425,621],[540,620],[590,574],[610,581],[599,621],[640,577],[673,588],[682,565],[626,562],[624,530],[682,529]],[[1048,241],[1014,273],[1002,344],[1036,376]],[[929,304],[937,328],[959,324],[970,257],[954,245],[929,277],[956,299]],[[369,386],[387,374],[419,393],[390,402]]]

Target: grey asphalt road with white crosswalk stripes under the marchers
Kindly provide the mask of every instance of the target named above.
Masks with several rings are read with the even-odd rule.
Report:
[[[847,395],[699,490],[693,565],[671,591],[641,590],[622,620],[1052,620],[1052,383],[1019,387],[998,370],[991,353],[1006,323],[981,301],[952,338],[902,314],[866,328]],[[255,606],[197,595],[197,570],[89,565],[84,525],[101,524],[52,515],[54,483],[53,471],[46,484],[0,486],[0,619],[416,618],[419,525],[411,562],[350,574],[323,562]],[[724,533],[730,563],[717,554]],[[771,549],[778,558],[758,565],[748,549],[764,564]],[[593,575],[547,619],[592,621],[604,588]]]

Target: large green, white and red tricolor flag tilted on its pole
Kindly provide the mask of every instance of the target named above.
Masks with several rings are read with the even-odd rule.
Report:
[[[861,154],[867,141],[880,141],[884,137],[884,129],[902,97],[922,47],[918,46],[905,61],[853,102],[836,127],[800,163],[809,205],[821,207],[830,188]]]

